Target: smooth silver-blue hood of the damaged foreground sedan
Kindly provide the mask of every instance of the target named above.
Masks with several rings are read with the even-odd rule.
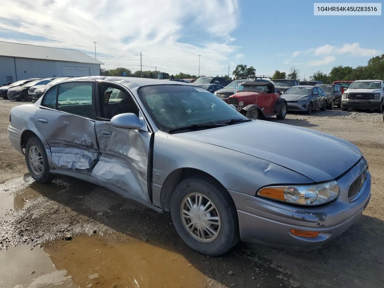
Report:
[[[314,182],[337,178],[362,157],[358,147],[343,139],[262,120],[175,135],[273,162]]]

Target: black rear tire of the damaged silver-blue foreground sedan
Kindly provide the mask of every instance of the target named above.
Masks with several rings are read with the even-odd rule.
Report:
[[[32,154],[36,154],[34,153],[36,149],[38,154],[36,158],[33,159],[31,156]],[[32,164],[33,160],[35,160],[35,166]],[[50,183],[55,180],[56,175],[50,173],[50,167],[44,146],[36,137],[31,137],[25,145],[25,163],[29,173],[31,174],[32,178],[36,180],[36,182]],[[40,173],[37,171],[40,170],[40,166],[38,166],[37,163],[42,166]]]

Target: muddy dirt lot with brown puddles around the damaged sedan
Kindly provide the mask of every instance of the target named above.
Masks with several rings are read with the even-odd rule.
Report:
[[[81,180],[33,182],[7,135],[9,110],[18,104],[0,100],[0,288],[384,287],[380,115],[315,111],[268,120],[329,133],[362,150],[372,198],[358,223],[311,252],[240,243],[207,257],[180,240],[169,214]]]

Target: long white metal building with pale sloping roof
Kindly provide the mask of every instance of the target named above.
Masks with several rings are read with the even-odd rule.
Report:
[[[0,86],[29,78],[100,75],[100,64],[78,50],[0,41]]]

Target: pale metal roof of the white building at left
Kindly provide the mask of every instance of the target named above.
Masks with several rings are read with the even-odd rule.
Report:
[[[0,56],[104,64],[78,50],[0,41]]]

